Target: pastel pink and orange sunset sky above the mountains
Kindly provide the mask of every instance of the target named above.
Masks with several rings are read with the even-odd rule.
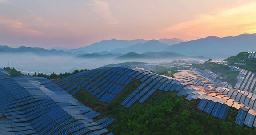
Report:
[[[0,45],[236,36],[256,33],[255,9],[256,0],[0,0]]]

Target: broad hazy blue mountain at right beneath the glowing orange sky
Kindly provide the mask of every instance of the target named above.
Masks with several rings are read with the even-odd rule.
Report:
[[[169,46],[168,50],[188,56],[226,58],[242,51],[256,50],[255,39],[256,34],[242,34],[223,38],[209,36],[204,39],[174,44]]]

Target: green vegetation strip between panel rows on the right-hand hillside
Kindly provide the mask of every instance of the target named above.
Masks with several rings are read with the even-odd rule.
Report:
[[[215,74],[221,73],[221,76],[223,77],[221,80],[227,81],[230,83],[232,86],[236,85],[237,82],[237,75],[239,74],[238,71],[229,71],[230,67],[225,66],[223,64],[216,64],[213,62],[205,62],[204,64],[192,64],[192,67],[194,68],[199,68],[202,70],[209,69]]]

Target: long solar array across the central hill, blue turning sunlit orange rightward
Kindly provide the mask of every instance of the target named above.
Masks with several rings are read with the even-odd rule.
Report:
[[[208,77],[204,77],[205,75]],[[216,85],[211,83],[216,75],[213,75],[212,72],[209,71],[205,71],[205,73],[200,76],[197,75],[195,71],[183,71],[183,73],[176,73],[175,76],[176,78],[157,75],[137,67],[101,67],[95,70],[85,71],[77,75],[69,76],[68,78],[62,79],[57,83],[62,87],[66,87],[66,90],[70,89],[68,87],[72,87],[74,90],[76,90],[80,88],[77,86],[77,84],[74,85],[76,88],[74,88],[72,85],[68,87],[66,85],[68,85],[70,82],[79,83],[77,80],[81,81],[86,78],[84,83],[87,85],[80,83],[80,85],[83,85],[84,87],[83,90],[88,91],[100,101],[106,102],[101,98],[104,94],[111,93],[110,89],[112,85],[117,83],[118,86],[124,85],[125,87],[130,82],[118,83],[115,80],[132,80],[136,78],[137,80],[140,80],[141,85],[135,90],[128,90],[130,91],[130,94],[121,102],[121,105],[126,108],[132,107],[132,105],[135,103],[144,103],[156,91],[176,91],[177,96],[185,96],[185,99],[189,101],[193,99],[200,99],[200,103],[198,104],[197,108],[216,118],[226,119],[230,108],[240,111],[240,109],[243,107],[248,109],[248,111],[246,111],[246,116],[248,115],[248,119],[250,118],[250,121],[252,121],[253,117],[250,115],[254,116],[254,113],[256,112],[256,94],[227,87],[216,87]],[[121,77],[125,79],[120,79]],[[111,82],[113,84],[106,82]],[[106,86],[104,85],[105,83]],[[103,94],[100,94],[101,96],[93,94],[96,89],[100,89],[100,92],[98,93],[104,91]],[[121,87],[120,91],[123,90],[124,88]],[[116,93],[116,95],[119,93]],[[237,117],[240,117],[240,115],[238,114]],[[245,121],[246,119],[247,118],[245,117]]]

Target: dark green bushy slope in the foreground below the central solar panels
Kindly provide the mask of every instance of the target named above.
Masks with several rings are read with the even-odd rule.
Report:
[[[230,110],[222,121],[196,109],[199,100],[188,101],[175,92],[157,91],[145,103],[129,109],[120,103],[140,85],[133,80],[112,103],[100,103],[86,91],[75,98],[116,122],[108,127],[116,135],[255,135],[253,128],[239,127],[234,121],[237,111]],[[100,118],[97,118],[100,119]]]

